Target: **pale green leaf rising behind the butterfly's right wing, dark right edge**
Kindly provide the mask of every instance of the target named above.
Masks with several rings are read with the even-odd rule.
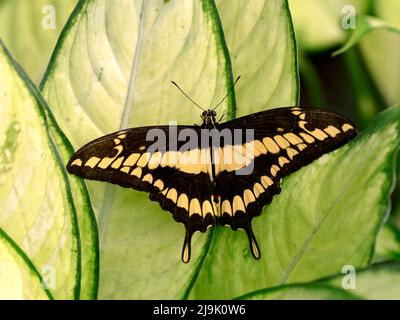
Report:
[[[216,1],[232,59],[238,116],[297,105],[297,48],[287,1]],[[238,18],[240,17],[240,18]]]

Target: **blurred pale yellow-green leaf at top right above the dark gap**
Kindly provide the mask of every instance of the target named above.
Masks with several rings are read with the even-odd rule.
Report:
[[[321,51],[346,40],[342,19],[352,6],[360,15],[368,8],[368,0],[289,0],[294,27],[301,49]],[[356,20],[357,21],[357,20]]]

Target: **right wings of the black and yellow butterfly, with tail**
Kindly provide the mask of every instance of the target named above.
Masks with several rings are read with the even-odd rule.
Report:
[[[311,108],[279,108],[268,110],[221,124],[220,130],[250,129],[247,172],[234,169],[238,165],[221,162],[217,170],[216,192],[220,195],[220,222],[232,229],[246,230],[253,256],[259,258],[251,220],[260,215],[263,206],[281,190],[282,177],[311,163],[321,155],[333,151],[357,135],[355,125],[333,112]],[[244,131],[243,135],[244,135]],[[246,141],[242,137],[242,141]],[[249,141],[247,141],[249,142]],[[236,145],[236,152],[245,144]],[[239,150],[238,150],[239,149]],[[240,150],[242,149],[242,150]],[[224,146],[221,153],[232,153]],[[242,152],[240,152],[242,151]],[[221,158],[226,155],[221,155]]]

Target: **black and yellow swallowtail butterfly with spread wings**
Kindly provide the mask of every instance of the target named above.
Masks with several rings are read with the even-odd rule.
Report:
[[[185,225],[183,262],[190,259],[193,233],[218,223],[244,229],[253,256],[259,259],[251,222],[280,192],[281,178],[357,135],[355,125],[341,115],[299,107],[263,111],[225,123],[216,121],[215,111],[206,110],[202,120],[200,126],[177,126],[176,133],[179,136],[189,129],[200,136],[202,129],[217,134],[250,130],[252,139],[238,143],[221,138],[218,146],[210,139],[192,149],[185,148],[187,141],[178,140],[164,150],[150,150],[154,141],[148,133],[165,132],[170,141],[169,126],[132,128],[88,143],[74,154],[67,169],[86,179],[148,192],[151,200]],[[224,161],[232,154],[240,160]],[[238,174],[246,168],[251,170]]]

